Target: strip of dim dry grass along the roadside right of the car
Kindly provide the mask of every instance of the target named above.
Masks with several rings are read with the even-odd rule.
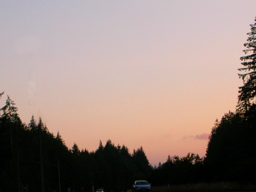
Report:
[[[219,192],[219,191],[255,191],[256,185],[238,183],[197,183],[170,186],[152,186],[153,192]]]

